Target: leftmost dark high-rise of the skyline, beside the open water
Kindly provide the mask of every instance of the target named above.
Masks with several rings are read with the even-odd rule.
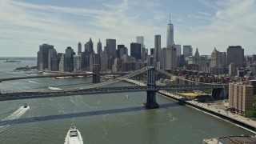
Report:
[[[38,70],[46,70],[48,68],[49,50],[54,49],[54,46],[49,44],[42,44],[38,51]]]

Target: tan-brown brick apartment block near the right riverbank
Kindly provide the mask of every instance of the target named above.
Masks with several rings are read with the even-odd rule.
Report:
[[[254,110],[253,106],[254,86],[245,84],[229,84],[229,104],[238,114],[244,114],[247,110]]]

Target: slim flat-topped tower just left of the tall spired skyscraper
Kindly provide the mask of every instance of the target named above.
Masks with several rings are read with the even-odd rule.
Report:
[[[161,61],[161,35],[154,35],[154,66],[159,66]]]

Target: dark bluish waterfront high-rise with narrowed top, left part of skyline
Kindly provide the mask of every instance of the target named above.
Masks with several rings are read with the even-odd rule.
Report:
[[[68,46],[65,54],[65,70],[71,72],[73,70],[74,50]]]

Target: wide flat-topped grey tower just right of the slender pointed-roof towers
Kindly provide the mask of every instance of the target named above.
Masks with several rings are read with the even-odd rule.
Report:
[[[104,47],[104,51],[109,58],[110,56],[116,58],[116,39],[106,39],[106,46]]]

